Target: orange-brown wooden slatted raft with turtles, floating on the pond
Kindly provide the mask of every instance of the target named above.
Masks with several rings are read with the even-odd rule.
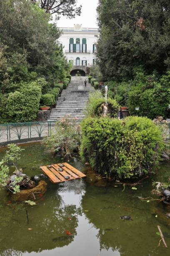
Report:
[[[86,177],[85,174],[80,172],[79,170],[75,169],[73,166],[67,163],[62,163],[64,167],[62,167],[63,171],[60,172],[60,164],[51,164],[51,167],[47,166],[40,166],[42,172],[44,172],[47,177],[50,179],[52,183],[60,183],[69,181],[72,179],[80,179]],[[70,179],[65,179],[65,176],[69,176]]]

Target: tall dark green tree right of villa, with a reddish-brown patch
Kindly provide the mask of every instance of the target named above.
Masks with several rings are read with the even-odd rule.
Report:
[[[170,68],[169,0],[100,0],[97,59],[105,79],[129,79],[133,68]]]

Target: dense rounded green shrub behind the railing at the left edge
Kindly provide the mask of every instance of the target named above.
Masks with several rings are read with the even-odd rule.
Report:
[[[0,101],[1,123],[35,120],[39,109],[40,97],[41,87],[36,81],[21,83],[19,91],[10,92],[2,97]]]

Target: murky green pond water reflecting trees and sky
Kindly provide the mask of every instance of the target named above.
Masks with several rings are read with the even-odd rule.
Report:
[[[22,147],[25,150],[18,167],[29,176],[40,174],[42,164],[65,161],[46,154],[38,143]],[[0,149],[0,159],[5,150]],[[170,255],[170,219],[165,217],[170,207],[156,200],[142,202],[137,197],[159,198],[150,193],[151,183],[152,180],[168,179],[169,162],[162,162],[152,178],[143,180],[137,190],[125,186],[124,191],[122,184],[97,179],[79,159],[69,163],[84,172],[87,178],[60,184],[52,184],[44,178],[47,192],[41,197],[36,196],[37,205],[10,202],[7,193],[0,190],[0,255]],[[13,167],[10,169],[11,172],[14,170]],[[123,221],[121,215],[130,215],[133,221]],[[165,234],[168,248],[162,242],[158,247],[157,225]]]

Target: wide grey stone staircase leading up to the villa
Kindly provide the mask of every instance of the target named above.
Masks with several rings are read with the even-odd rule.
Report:
[[[84,80],[87,86],[84,86]],[[77,118],[80,123],[84,118],[84,110],[89,98],[89,92],[94,91],[94,87],[88,82],[87,77],[72,77],[66,90],[62,90],[61,96],[57,100],[57,105],[52,108],[49,120],[59,120],[65,115]]]

